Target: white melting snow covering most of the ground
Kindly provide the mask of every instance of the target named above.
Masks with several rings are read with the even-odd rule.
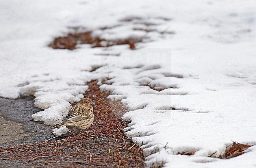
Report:
[[[33,94],[45,109],[35,120],[60,123],[87,81],[108,77],[112,85],[101,89],[130,108],[123,117],[131,121],[127,135],[142,144],[148,165],[256,166],[255,146],[232,159],[208,157],[221,155],[232,140],[256,144],[255,1],[1,0],[0,25],[0,96]],[[137,50],[47,46],[75,26],[143,42]],[[95,66],[101,67],[89,72]]]

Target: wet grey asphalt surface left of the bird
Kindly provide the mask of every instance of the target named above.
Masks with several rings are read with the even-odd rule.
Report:
[[[33,120],[32,114],[38,111],[42,109],[35,107],[33,96],[15,100],[0,98],[0,146],[28,144],[54,137],[51,126]]]

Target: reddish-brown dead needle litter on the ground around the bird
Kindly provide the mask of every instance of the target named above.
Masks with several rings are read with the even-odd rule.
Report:
[[[66,134],[50,142],[0,148],[3,164],[15,167],[144,167],[143,151],[126,137],[122,115],[127,111],[120,101],[107,99],[96,81],[87,83],[85,97],[96,103],[95,121],[87,133]]]

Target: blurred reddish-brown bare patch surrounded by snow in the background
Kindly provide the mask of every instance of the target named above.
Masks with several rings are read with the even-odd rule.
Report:
[[[142,37],[130,37],[127,39],[104,39],[93,36],[93,31],[82,33],[68,33],[66,36],[56,37],[48,46],[54,49],[74,50],[77,44],[91,44],[91,47],[109,47],[114,45],[128,44],[131,50],[136,49],[135,43],[142,42]]]

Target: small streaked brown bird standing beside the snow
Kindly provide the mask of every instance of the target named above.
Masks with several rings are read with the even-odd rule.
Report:
[[[70,109],[62,124],[52,128],[61,128],[66,126],[73,132],[80,132],[89,128],[91,124],[93,124],[93,106],[95,106],[95,103],[91,101],[91,99],[82,98]]]

